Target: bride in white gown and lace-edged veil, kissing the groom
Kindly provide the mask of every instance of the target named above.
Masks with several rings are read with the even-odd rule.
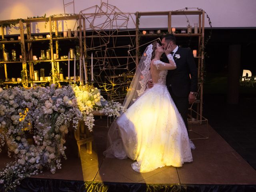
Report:
[[[132,169],[137,172],[193,160],[186,126],[166,87],[168,70],[176,69],[170,50],[170,45],[164,50],[156,41],[146,48],[124,100],[127,111],[108,131],[104,155],[136,160]],[[163,53],[169,63],[160,61]],[[149,78],[154,86],[146,89]]]

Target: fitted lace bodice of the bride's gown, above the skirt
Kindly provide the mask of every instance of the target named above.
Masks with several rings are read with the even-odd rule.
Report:
[[[158,83],[158,84],[166,84],[166,76],[168,73],[168,70],[159,70],[159,66],[163,65],[165,66],[165,63],[160,61],[160,60],[156,60],[153,63],[156,66],[157,70],[151,70],[151,76],[152,76],[152,81],[153,83]]]

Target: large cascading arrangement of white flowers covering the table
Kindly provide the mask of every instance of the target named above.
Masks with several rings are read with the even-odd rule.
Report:
[[[8,156],[16,159],[0,172],[0,184],[5,190],[16,188],[23,178],[42,172],[43,167],[52,174],[61,168],[70,124],[76,129],[84,120],[92,131],[94,110],[114,116],[124,110],[117,102],[105,106],[102,103],[106,100],[100,90],[90,85],[0,88],[0,152],[6,144]],[[32,138],[27,137],[28,132]]]

